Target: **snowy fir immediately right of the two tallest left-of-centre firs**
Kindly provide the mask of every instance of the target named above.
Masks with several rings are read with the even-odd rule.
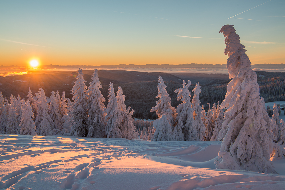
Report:
[[[121,112],[118,107],[118,101],[115,97],[113,83],[109,85],[109,102],[107,105],[107,115],[105,116],[105,134],[107,138],[122,138],[122,132],[120,130],[120,124],[123,120]]]

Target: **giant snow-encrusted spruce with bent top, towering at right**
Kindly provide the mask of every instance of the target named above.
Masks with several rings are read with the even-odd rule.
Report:
[[[275,173],[268,162],[273,146],[272,122],[259,96],[257,75],[233,25],[224,25],[220,32],[226,37],[225,55],[229,56],[227,69],[232,80],[221,103],[227,110],[219,132],[223,142],[215,167]]]

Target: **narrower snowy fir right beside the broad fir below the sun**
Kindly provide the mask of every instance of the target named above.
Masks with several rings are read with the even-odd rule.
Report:
[[[59,96],[59,101],[61,101],[60,96]],[[55,133],[58,133],[58,131],[62,130],[62,119],[61,119],[58,104],[59,103],[58,103],[58,99],[56,99],[56,97],[55,97],[55,92],[52,91],[51,95],[50,95],[50,107],[48,110],[48,115],[54,123],[54,126],[52,126],[52,128],[57,130],[57,132],[55,132]],[[61,105],[61,103],[60,103],[60,105]]]

